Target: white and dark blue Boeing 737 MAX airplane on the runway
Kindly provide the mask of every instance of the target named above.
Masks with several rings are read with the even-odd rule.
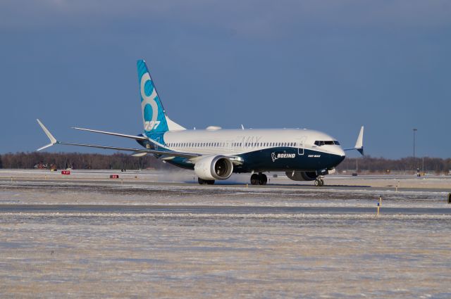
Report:
[[[266,185],[264,172],[285,172],[294,181],[314,181],[323,186],[323,177],[335,172],[345,159],[345,151],[357,150],[364,155],[360,129],[354,148],[342,149],[337,139],[311,129],[186,129],[173,122],[163,108],[154,80],[144,60],[137,61],[144,132],[138,135],[105,132],[97,129],[73,129],[135,139],[142,148],[124,148],[95,144],[74,144],[58,141],[37,120],[51,143],[70,146],[105,148],[132,152],[134,156],[152,154],[166,163],[194,170],[199,184],[214,184],[230,178],[233,173],[251,173],[252,185]]]

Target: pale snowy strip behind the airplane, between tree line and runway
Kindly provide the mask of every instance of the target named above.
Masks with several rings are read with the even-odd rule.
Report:
[[[180,170],[176,172],[165,171],[133,171],[121,172],[117,170],[73,170],[69,176],[61,175],[61,171],[49,172],[48,170],[1,170],[0,180],[7,179],[28,179],[28,180],[54,180],[80,182],[86,180],[94,180],[97,182],[111,182],[110,174],[118,174],[119,182],[135,182],[137,184],[146,183],[188,183],[197,184],[197,178],[190,170]],[[273,177],[278,174],[278,177]],[[280,175],[282,174],[282,175]],[[216,184],[236,184],[245,185],[249,183],[250,174],[232,174],[232,177],[226,181],[216,182]],[[393,176],[393,175],[364,175],[359,177],[351,177],[349,175],[328,175],[325,178],[326,186],[365,186],[379,189],[395,190],[399,189],[443,189],[450,191],[451,176]],[[276,172],[268,174],[268,184],[288,185],[288,186],[314,186],[313,182],[295,182],[288,179],[285,174]],[[323,187],[323,188],[324,188]]]

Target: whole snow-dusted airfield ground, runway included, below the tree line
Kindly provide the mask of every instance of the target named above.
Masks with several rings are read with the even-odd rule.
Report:
[[[395,191],[109,173],[0,172],[0,298],[451,297],[447,179]]]

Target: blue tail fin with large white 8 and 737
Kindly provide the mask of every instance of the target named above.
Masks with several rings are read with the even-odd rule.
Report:
[[[137,61],[137,69],[144,133],[164,133],[168,131],[166,113],[150,77],[149,69],[143,60]]]

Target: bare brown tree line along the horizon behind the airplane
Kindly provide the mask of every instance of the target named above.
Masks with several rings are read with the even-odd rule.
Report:
[[[357,159],[357,161],[356,161]],[[168,163],[154,158],[153,155],[133,157],[124,153],[104,155],[99,153],[6,153],[0,155],[0,168],[33,168],[51,166],[57,169],[128,169],[138,170],[147,168],[162,169],[173,167]],[[386,158],[346,158],[338,165],[338,172],[348,170],[354,172],[435,172],[448,174],[451,170],[451,158],[400,158],[397,160]]]

